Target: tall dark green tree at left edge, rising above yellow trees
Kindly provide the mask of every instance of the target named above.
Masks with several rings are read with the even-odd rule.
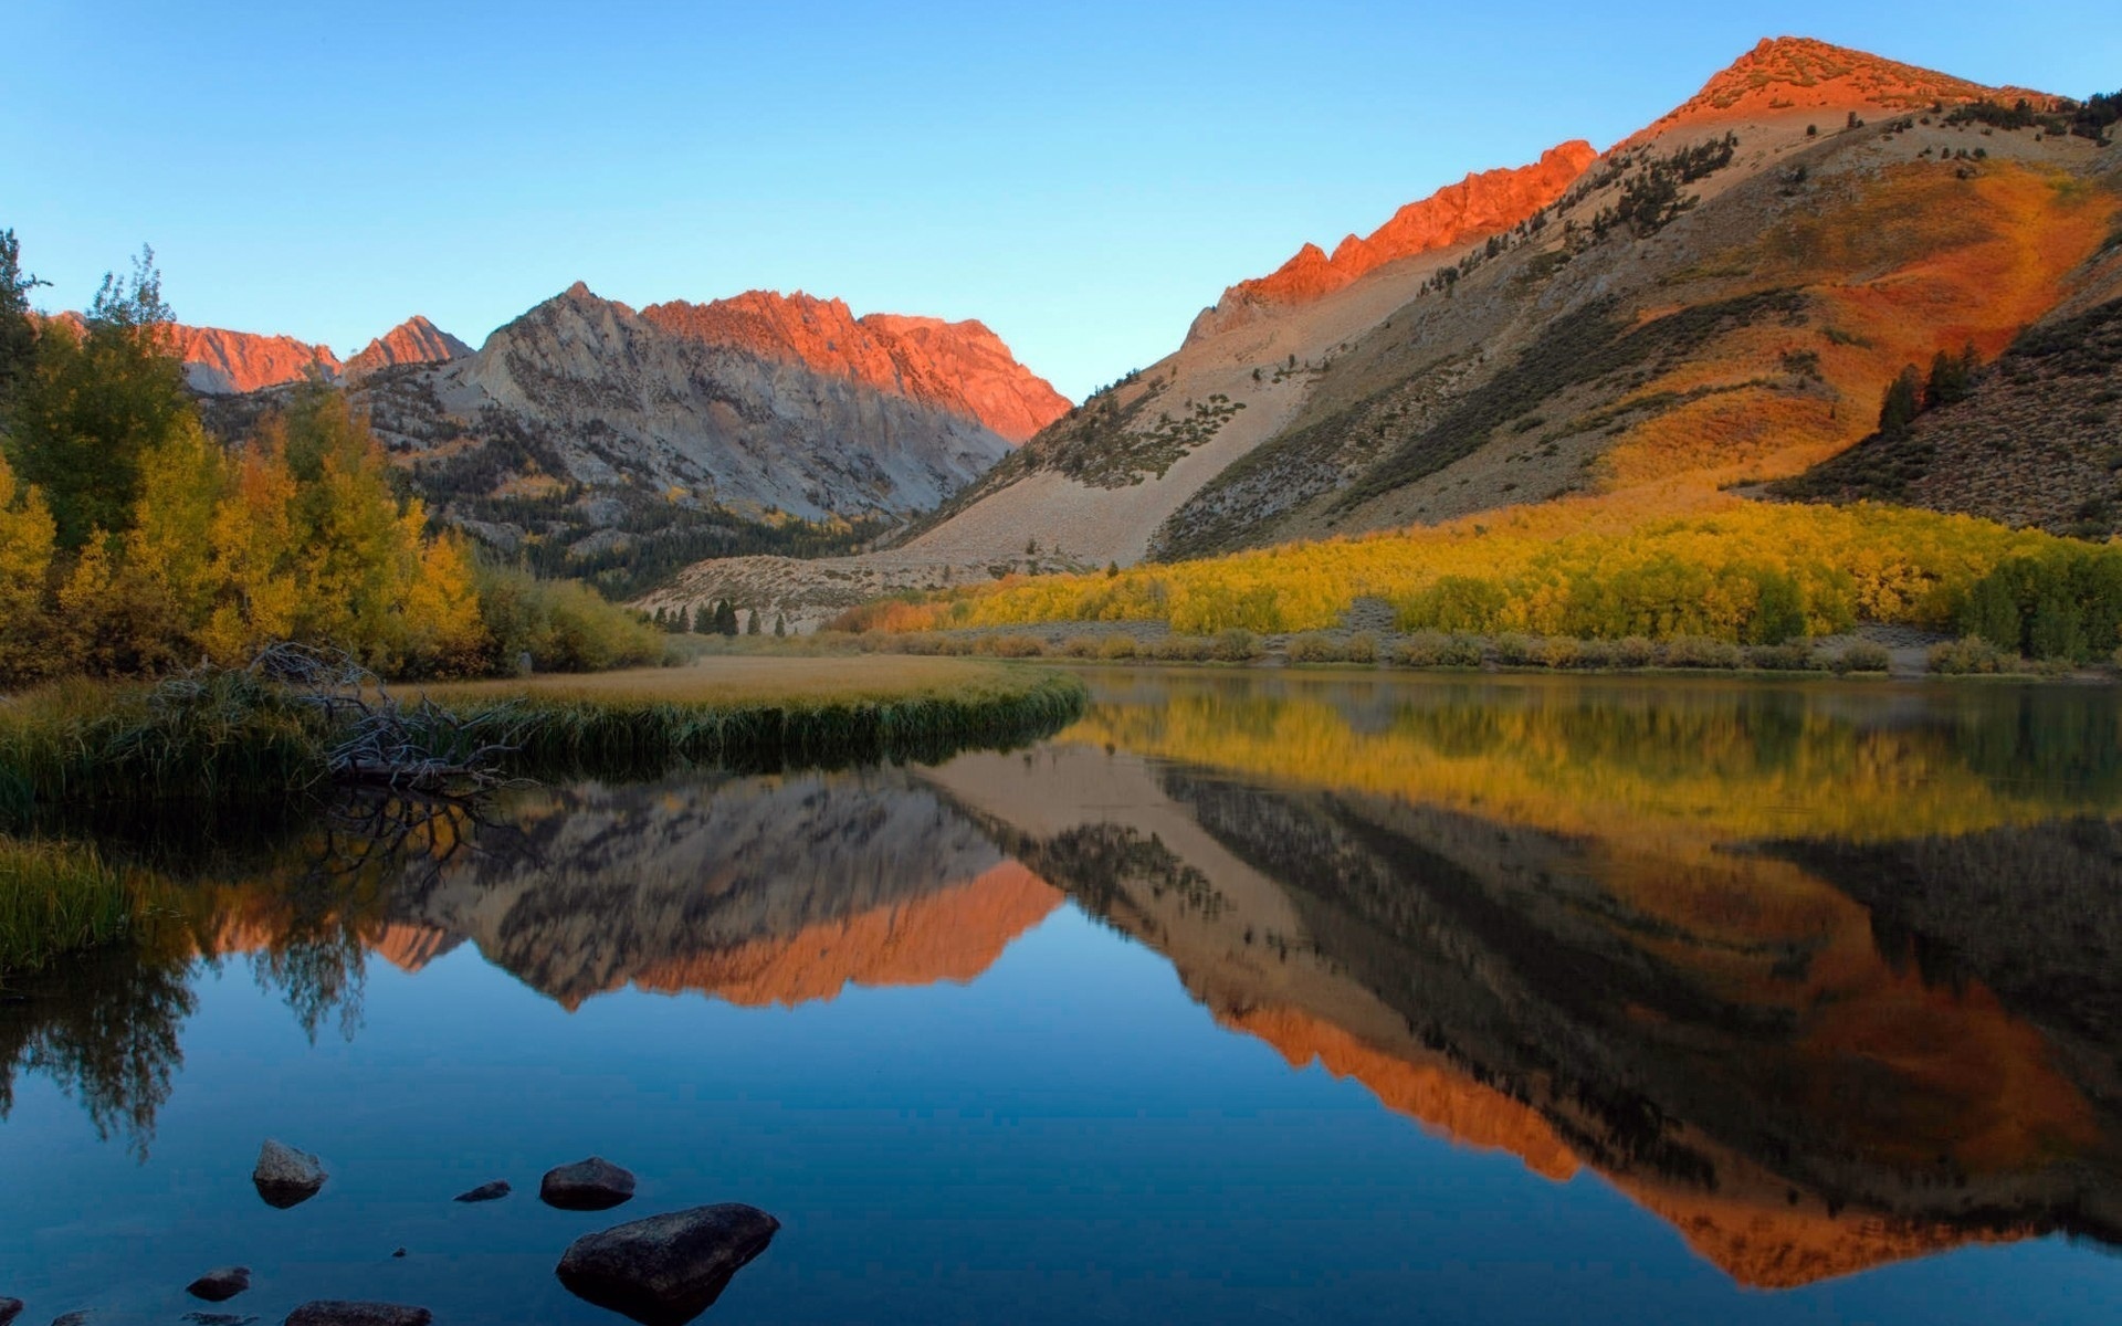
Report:
[[[53,320],[36,337],[13,407],[13,460],[51,503],[59,547],[132,528],[142,456],[197,418],[170,322],[155,252],[142,248],[129,276],[104,276],[81,331]]]

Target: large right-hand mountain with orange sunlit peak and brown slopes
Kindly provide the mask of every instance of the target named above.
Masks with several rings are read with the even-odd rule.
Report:
[[[1725,509],[1859,443],[1903,365],[1967,344],[1990,361],[2088,297],[2122,195],[2099,115],[1766,40],[1604,153],[1570,142],[1468,176],[1233,284],[1171,354],[879,552],[709,562],[666,596],[808,624],[855,581],[942,588],[1504,509],[1555,530]]]

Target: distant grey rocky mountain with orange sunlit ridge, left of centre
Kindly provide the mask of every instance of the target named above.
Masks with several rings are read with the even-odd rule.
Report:
[[[344,380],[431,511],[622,596],[707,556],[847,549],[1069,409],[980,322],[768,291],[637,312],[581,282],[477,350],[412,318]],[[282,390],[210,422],[242,435]]]

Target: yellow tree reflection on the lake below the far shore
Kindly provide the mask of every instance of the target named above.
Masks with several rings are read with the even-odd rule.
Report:
[[[1195,692],[1101,704],[1067,738],[1562,834],[1880,840],[2111,808],[2084,785],[1986,781],[1942,732],[1768,711],[1736,690],[1689,704],[1562,687],[1481,704],[1411,692],[1364,730],[1320,698]]]

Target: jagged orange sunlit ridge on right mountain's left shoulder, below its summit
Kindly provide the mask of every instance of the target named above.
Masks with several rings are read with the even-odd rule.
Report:
[[[1201,312],[1186,339],[1248,322],[1263,308],[1330,295],[1386,263],[1507,231],[1562,197],[1596,159],[1598,151],[1589,142],[1564,142],[1541,153],[1532,165],[1468,174],[1458,185],[1411,202],[1367,238],[1341,240],[1333,257],[1318,244],[1305,244],[1273,274],[1224,291],[1216,308]]]

